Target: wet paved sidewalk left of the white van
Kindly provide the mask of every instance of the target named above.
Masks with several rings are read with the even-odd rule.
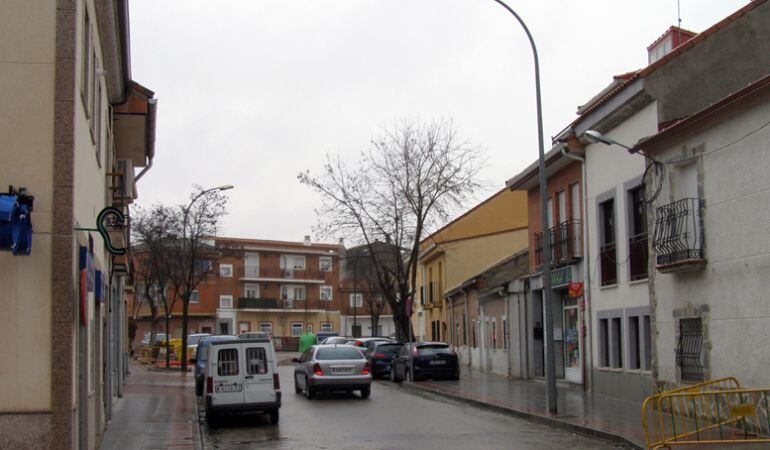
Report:
[[[192,372],[130,363],[100,449],[202,449]]]

